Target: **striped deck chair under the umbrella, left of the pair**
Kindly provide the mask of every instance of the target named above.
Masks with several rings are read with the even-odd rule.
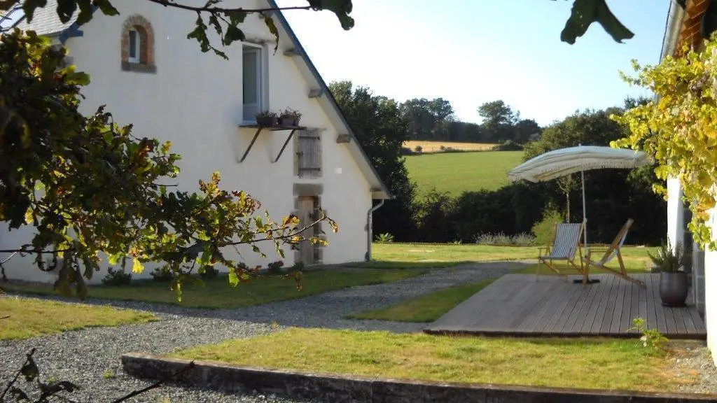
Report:
[[[554,238],[548,247],[541,248],[538,251],[538,261],[559,275],[564,273],[558,270],[554,260],[565,260],[575,267],[579,272],[583,273],[582,253],[578,253],[580,257],[580,266],[575,264],[575,252],[580,250],[580,237],[583,232],[584,225],[582,222],[564,222],[555,225]],[[543,252],[543,250],[545,252]],[[536,268],[536,281],[540,278],[540,265]]]

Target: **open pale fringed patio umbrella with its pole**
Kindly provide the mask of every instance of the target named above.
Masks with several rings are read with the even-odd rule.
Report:
[[[583,199],[584,245],[587,248],[587,209],[585,206],[585,171],[592,169],[632,169],[650,164],[647,154],[625,148],[577,146],[560,148],[532,158],[508,172],[511,182],[549,181],[580,172]]]

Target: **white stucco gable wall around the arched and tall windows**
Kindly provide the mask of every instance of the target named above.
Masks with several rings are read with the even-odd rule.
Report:
[[[244,1],[246,6],[263,5],[262,1]],[[260,4],[261,3],[261,4]],[[115,6],[121,16],[95,19],[83,27],[85,36],[71,38],[66,45],[78,70],[88,72],[91,84],[82,93],[83,113],[92,113],[106,104],[118,123],[133,123],[136,136],[169,140],[173,151],[180,153],[179,189],[194,191],[197,181],[207,180],[213,171],[222,173],[224,189],[241,189],[262,201],[273,218],[279,220],[294,209],[293,184],[323,184],[321,203],[339,225],[339,232],[328,233],[329,246],[323,253],[327,264],[361,261],[366,253],[366,212],[371,207],[369,182],[361,174],[346,144],[336,143],[343,129],[331,124],[317,100],[308,98],[309,84],[298,70],[300,59],[283,55],[290,44],[280,43],[276,54],[273,44],[268,51],[268,102],[271,110],[290,107],[303,113],[302,125],[323,128],[323,177],[300,179],[294,176],[294,143],[277,163],[277,156],[288,131],[263,131],[243,163],[239,158],[247,149],[256,129],[239,129],[242,123],[242,45],[223,49],[229,61],[209,52],[201,53],[199,44],[186,39],[194,27],[196,14],[172,11],[147,1],[123,0]],[[141,14],[153,25],[155,34],[156,74],[120,70],[120,34],[125,19]],[[249,39],[266,39],[272,35],[257,17],[250,16],[242,29]],[[214,43],[218,43],[216,40]],[[9,249],[27,242],[29,232],[0,232],[0,247]],[[272,245],[265,243],[265,252]],[[293,264],[294,254],[285,248],[286,265]],[[246,250],[248,265],[265,265],[267,259]],[[6,255],[4,255],[6,256]],[[0,258],[4,258],[0,254]],[[6,265],[10,278],[52,281],[53,275],[32,268],[30,258],[14,258]],[[29,270],[28,270],[29,269]],[[95,274],[97,283],[104,272]],[[148,276],[146,270],[145,277]]]

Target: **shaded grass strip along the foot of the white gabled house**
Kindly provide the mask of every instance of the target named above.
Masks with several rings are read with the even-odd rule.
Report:
[[[169,283],[151,280],[136,281],[130,287],[90,287],[89,294],[90,298],[173,303],[192,308],[238,308],[304,298],[357,285],[390,283],[426,272],[424,269],[307,270],[303,275],[301,290],[296,289],[293,279],[261,278],[232,288],[227,278],[222,277],[207,280],[204,288],[186,283],[181,303],[177,302],[176,293],[169,290]],[[2,287],[27,293],[54,293],[51,288],[16,288],[9,285]]]

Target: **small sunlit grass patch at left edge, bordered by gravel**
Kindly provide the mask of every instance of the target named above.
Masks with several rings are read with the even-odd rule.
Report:
[[[32,298],[0,296],[0,340],[47,336],[96,326],[154,321],[151,313]]]

